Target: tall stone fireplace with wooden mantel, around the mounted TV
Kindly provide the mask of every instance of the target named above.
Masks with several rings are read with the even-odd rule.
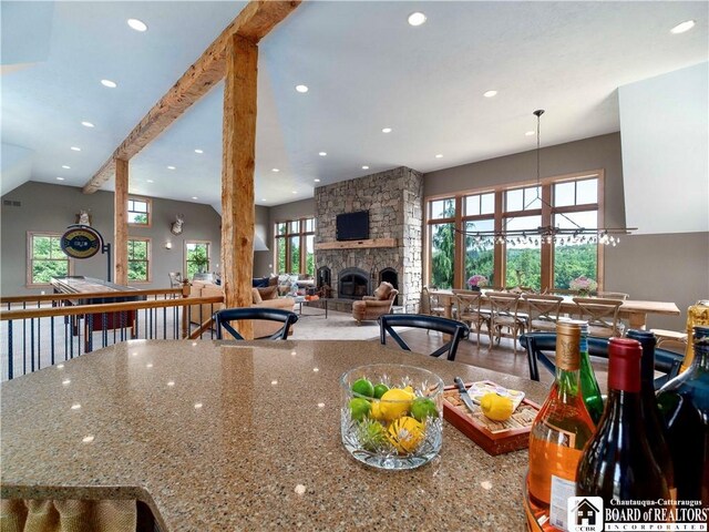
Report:
[[[368,279],[358,299],[371,295],[386,280],[399,290],[395,305],[417,310],[421,298],[423,176],[400,166],[357,180],[315,190],[316,250],[318,268],[332,274],[333,297],[350,298],[353,269]],[[369,211],[369,241],[337,242],[336,216]],[[364,288],[361,288],[361,287]],[[333,290],[335,291],[335,290]]]

